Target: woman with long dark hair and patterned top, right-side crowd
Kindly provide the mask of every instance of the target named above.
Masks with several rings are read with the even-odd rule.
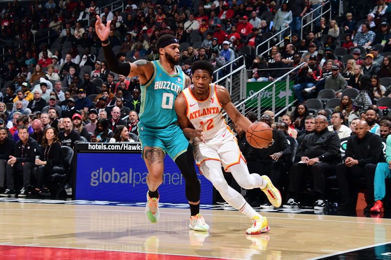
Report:
[[[373,103],[373,87],[369,76],[362,76],[360,78],[360,93],[353,101],[354,110],[358,115],[365,113],[368,107]]]

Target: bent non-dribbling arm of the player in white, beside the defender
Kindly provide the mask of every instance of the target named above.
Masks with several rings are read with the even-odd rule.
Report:
[[[180,93],[179,96],[175,99],[174,106],[176,115],[178,116],[178,123],[180,128],[182,128],[183,134],[187,138],[199,138],[199,140],[204,141],[203,130],[200,128],[194,129],[190,120],[186,116],[187,105],[183,93]]]

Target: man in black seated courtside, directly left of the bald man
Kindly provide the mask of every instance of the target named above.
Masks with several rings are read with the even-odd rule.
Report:
[[[325,189],[326,177],[335,174],[335,165],[341,160],[341,141],[338,135],[327,129],[325,116],[315,118],[315,132],[305,135],[297,149],[296,158],[299,162],[292,165],[289,172],[288,201],[284,208],[297,208],[300,192],[300,182],[303,174],[313,177],[313,193],[315,196],[315,210],[326,209]]]

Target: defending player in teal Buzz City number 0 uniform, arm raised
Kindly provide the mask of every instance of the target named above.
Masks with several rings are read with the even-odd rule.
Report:
[[[200,184],[194,167],[193,149],[177,123],[175,98],[190,85],[191,80],[178,70],[179,42],[172,35],[163,35],[156,42],[159,60],[119,62],[109,46],[110,23],[106,26],[96,16],[95,31],[102,40],[103,53],[110,71],[132,78],[138,76],[141,87],[139,138],[142,155],[148,168],[146,215],[151,222],[159,219],[159,193],[163,183],[164,157],[175,161],[186,182],[186,198],[190,205],[189,227],[208,231],[209,226],[199,214]]]

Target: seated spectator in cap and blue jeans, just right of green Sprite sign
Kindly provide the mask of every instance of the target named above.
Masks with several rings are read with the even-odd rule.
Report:
[[[312,87],[315,86],[316,82],[319,81],[322,77],[322,70],[316,63],[316,56],[311,55],[309,57],[308,63],[306,62],[298,72],[298,84],[294,85],[293,92],[296,95],[296,98],[299,102],[303,102],[304,98],[302,95],[302,90],[306,90],[309,93],[308,98],[310,97],[310,93],[312,91]]]

